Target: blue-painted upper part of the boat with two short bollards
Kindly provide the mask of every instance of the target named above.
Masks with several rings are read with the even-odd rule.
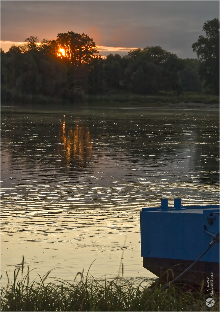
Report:
[[[196,260],[219,233],[219,205],[181,206],[181,199],[161,200],[161,207],[143,208],[141,256],[149,258]],[[219,262],[219,244],[208,250],[200,261]]]

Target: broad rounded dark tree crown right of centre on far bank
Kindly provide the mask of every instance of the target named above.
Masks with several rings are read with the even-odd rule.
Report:
[[[161,46],[147,46],[130,51],[125,69],[125,85],[133,92],[156,94],[160,90],[182,91],[180,71],[184,62]]]

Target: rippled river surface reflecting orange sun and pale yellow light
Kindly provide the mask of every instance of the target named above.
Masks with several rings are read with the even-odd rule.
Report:
[[[1,117],[1,270],[25,257],[93,276],[143,268],[140,215],[161,198],[219,200],[219,117],[208,110],[84,109]],[[66,269],[53,276],[73,279]],[[34,277],[34,273],[33,273]]]

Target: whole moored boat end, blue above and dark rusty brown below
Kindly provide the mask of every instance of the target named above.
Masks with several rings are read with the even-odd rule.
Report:
[[[204,280],[204,287],[219,290],[219,205],[182,206],[176,198],[174,207],[168,207],[168,200],[162,199],[161,207],[142,209],[140,229],[141,256],[148,271],[170,281],[203,255],[178,281]],[[213,239],[216,242],[207,250]]]

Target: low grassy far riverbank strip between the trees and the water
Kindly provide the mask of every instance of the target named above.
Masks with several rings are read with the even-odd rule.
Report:
[[[219,96],[198,92],[184,92],[181,95],[158,94],[158,95],[138,95],[128,92],[106,93],[103,95],[84,95],[70,100],[62,100],[43,95],[14,95],[10,100],[2,99],[2,106],[16,105],[62,105],[75,107],[133,107],[133,108],[219,108]]]

